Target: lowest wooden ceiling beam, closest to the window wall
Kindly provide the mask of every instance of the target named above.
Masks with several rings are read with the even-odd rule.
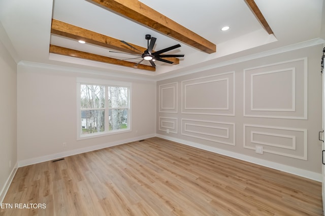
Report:
[[[98,61],[98,62],[104,62],[108,64],[114,64],[114,65],[119,65],[119,66],[124,66],[124,67],[132,67],[132,68],[137,68],[141,70],[148,70],[148,71],[155,71],[156,68],[148,65],[143,65],[143,64],[138,64],[135,67],[134,62],[128,62],[128,61],[123,61],[119,59],[114,59],[106,56],[100,56],[92,53],[86,53],[82,51],[77,51],[77,50],[72,50],[64,47],[58,47],[54,45],[50,45],[50,53],[53,54],[58,54],[58,55],[63,55],[63,56],[70,56],[70,57],[75,57],[75,58],[80,58],[80,59],[87,59],[91,61]]]

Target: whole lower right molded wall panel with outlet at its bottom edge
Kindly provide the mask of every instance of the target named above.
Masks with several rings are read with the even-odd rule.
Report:
[[[244,148],[307,160],[307,129],[244,124]]]

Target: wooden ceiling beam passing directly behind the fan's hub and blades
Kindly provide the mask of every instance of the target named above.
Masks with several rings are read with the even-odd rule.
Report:
[[[65,23],[59,20],[52,19],[51,33],[68,37],[76,40],[83,40],[88,44],[98,45],[100,47],[106,47],[108,49],[117,50],[124,53],[131,53],[139,55],[139,51],[132,50],[119,39],[100,34],[94,31],[90,31],[84,28],[80,28],[69,23]],[[128,43],[140,51],[145,51],[147,48],[143,48],[131,43]],[[179,64],[178,58],[165,58],[166,60],[174,62],[173,64]]]

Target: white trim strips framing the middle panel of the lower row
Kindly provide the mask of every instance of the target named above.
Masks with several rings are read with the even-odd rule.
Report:
[[[206,138],[206,137],[200,137],[200,136],[195,136],[195,135],[183,133],[183,132],[190,132],[190,133],[193,133],[193,134],[201,134],[201,135],[208,135],[208,136],[216,137],[216,138],[224,138],[223,136],[219,136],[219,135],[215,135],[215,134],[208,134],[208,133],[202,133],[202,132],[188,131],[188,130],[186,130],[186,123],[184,123],[185,128],[183,128],[183,121],[184,120],[185,121],[197,121],[197,122],[207,122],[207,123],[215,123],[215,124],[228,124],[228,125],[232,125],[233,126],[233,136],[232,136],[233,142],[232,143],[231,142],[225,142],[225,141],[222,141],[222,140],[209,139],[209,138]],[[201,124],[191,124],[191,125],[203,126]],[[208,125],[205,125],[205,127],[208,127],[208,128],[220,128],[220,127],[214,127],[214,126],[208,126]],[[230,139],[230,136],[229,136],[229,128],[228,128],[227,134],[228,134],[228,137],[226,137],[225,139]],[[235,133],[235,123],[230,123],[230,122],[203,121],[203,120],[194,120],[194,119],[182,118],[181,119],[181,135],[184,135],[184,136],[187,136],[187,137],[194,137],[194,138],[198,138],[198,139],[202,139],[202,140],[208,140],[208,141],[212,141],[212,142],[216,142],[216,143],[231,145],[231,146],[235,146],[236,145],[236,142],[235,142],[235,135],[236,135],[236,133]]]

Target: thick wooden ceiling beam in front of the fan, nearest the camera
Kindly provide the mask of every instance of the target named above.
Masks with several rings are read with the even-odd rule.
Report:
[[[138,0],[88,0],[205,53],[215,53],[216,45],[197,33],[158,13]]]

